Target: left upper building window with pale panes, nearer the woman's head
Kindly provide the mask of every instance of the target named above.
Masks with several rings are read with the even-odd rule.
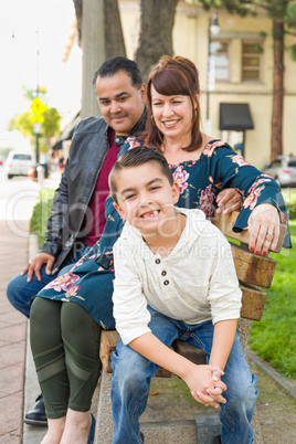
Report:
[[[211,67],[214,70],[214,80],[228,82],[230,80],[229,42],[211,42]]]

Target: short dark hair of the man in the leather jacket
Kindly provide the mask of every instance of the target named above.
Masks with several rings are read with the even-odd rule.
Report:
[[[121,57],[121,56],[116,56],[113,59],[106,60],[99,68],[95,72],[94,78],[93,78],[93,85],[94,87],[96,86],[96,80],[97,77],[112,77],[114,74],[117,74],[119,71],[124,71],[127,73],[131,81],[131,85],[136,88],[139,89],[142,81],[141,81],[141,74],[138,68],[138,65],[136,62],[133,62],[129,59]]]

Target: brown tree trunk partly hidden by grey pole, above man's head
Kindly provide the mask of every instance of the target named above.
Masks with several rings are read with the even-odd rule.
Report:
[[[77,18],[78,44],[82,42],[82,0],[73,0]],[[126,56],[117,0],[104,0],[105,57]]]

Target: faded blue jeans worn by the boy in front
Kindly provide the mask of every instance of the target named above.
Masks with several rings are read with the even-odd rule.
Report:
[[[211,321],[189,326],[151,307],[149,310],[149,327],[163,343],[170,347],[175,339],[182,339],[201,348],[209,358],[213,338]],[[112,368],[113,443],[141,443],[139,417],[146,409],[150,380],[158,366],[120,341],[112,355]],[[224,371],[222,380],[228,390],[223,392],[226,403],[221,404],[220,413],[222,443],[250,444],[254,437],[250,422],[258,394],[255,387],[257,377],[251,373],[245,361],[239,331]]]

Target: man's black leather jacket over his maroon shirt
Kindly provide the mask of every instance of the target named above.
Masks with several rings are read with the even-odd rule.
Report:
[[[145,120],[146,112],[134,127],[133,136],[144,129]],[[74,131],[42,247],[42,252],[55,256],[52,273],[59,271],[70,251],[78,247],[78,241],[83,242],[87,234],[84,228],[88,203],[109,147],[107,130],[103,117],[89,117]]]

